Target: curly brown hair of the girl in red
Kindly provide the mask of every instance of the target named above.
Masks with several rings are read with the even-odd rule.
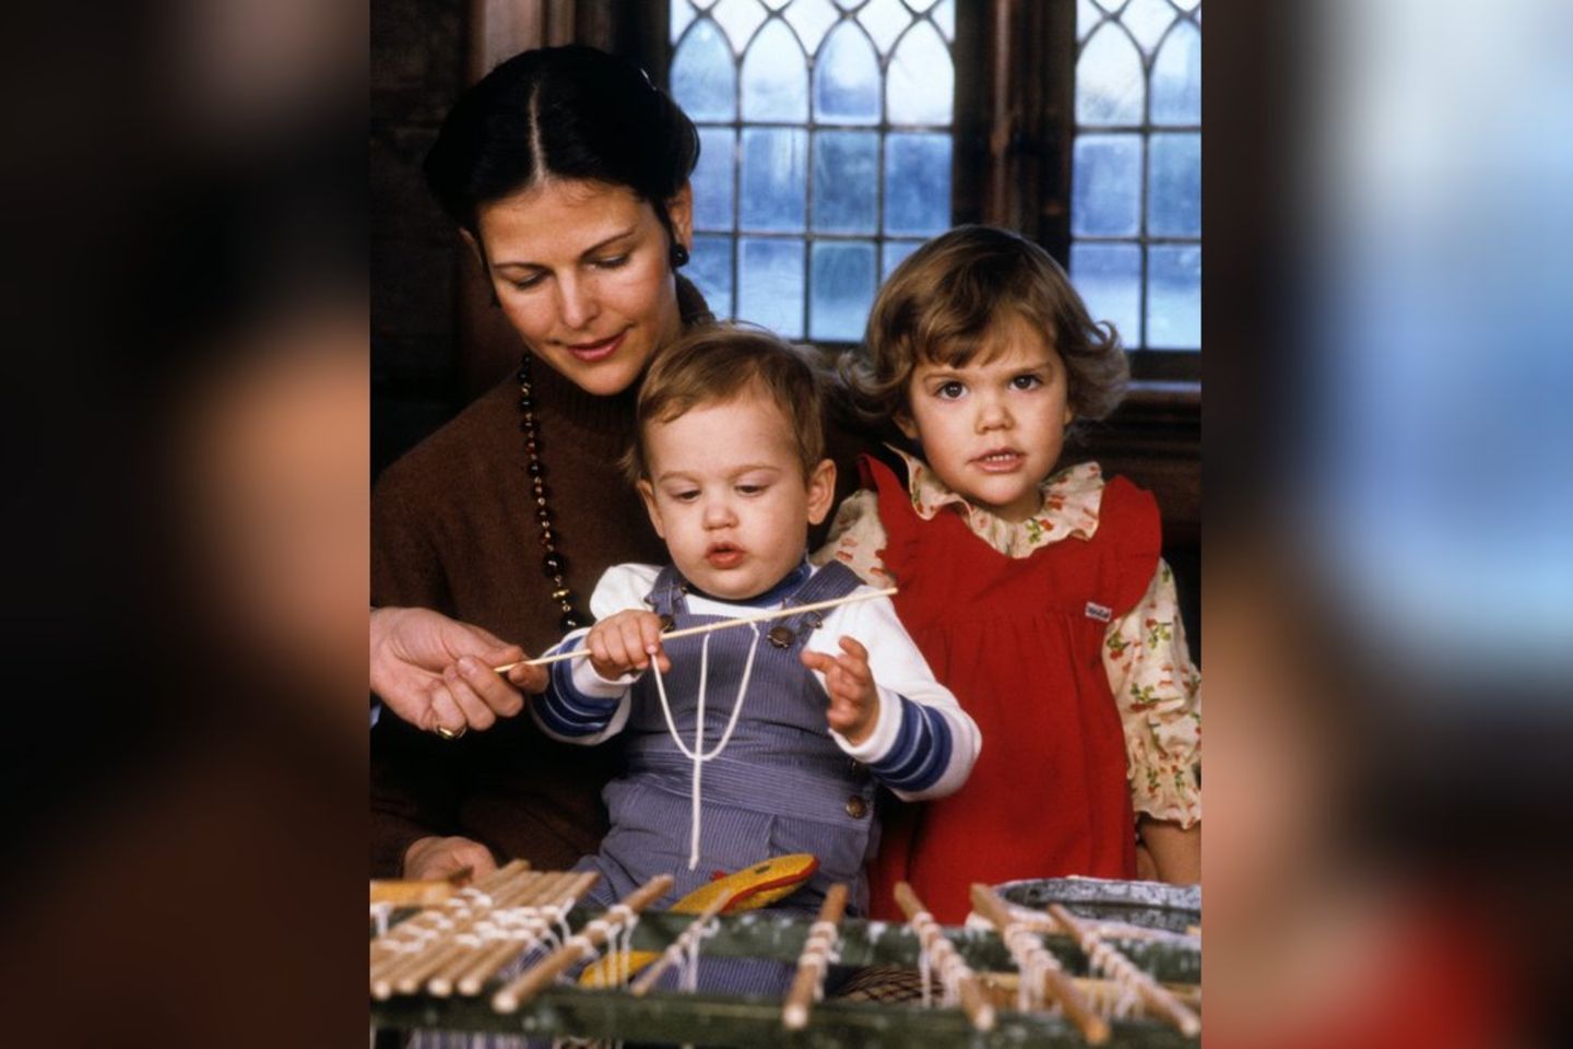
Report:
[[[890,431],[911,417],[908,385],[920,363],[966,366],[1002,321],[1019,316],[1065,362],[1078,420],[1103,418],[1125,396],[1129,363],[1120,335],[1095,322],[1048,252],[994,226],[956,226],[890,274],[868,313],[864,344],[842,357],[851,407]]]

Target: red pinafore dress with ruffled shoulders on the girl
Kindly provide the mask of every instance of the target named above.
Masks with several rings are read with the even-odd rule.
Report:
[[[900,587],[901,623],[983,736],[958,793],[889,805],[870,870],[871,917],[900,920],[898,881],[952,925],[971,909],[972,882],[1134,878],[1125,730],[1103,646],[1109,623],[1142,599],[1158,569],[1151,494],[1112,478],[1092,539],[1011,558],[952,510],[919,517],[906,483],[882,462],[865,456],[862,469],[879,495],[881,557]]]

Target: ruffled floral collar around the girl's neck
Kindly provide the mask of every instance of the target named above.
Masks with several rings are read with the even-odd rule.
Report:
[[[906,462],[908,491],[912,510],[931,521],[945,506],[955,506],[975,536],[1007,557],[1027,557],[1033,550],[1065,538],[1090,539],[1098,532],[1098,508],[1103,505],[1103,470],[1096,462],[1078,462],[1051,475],[1038,489],[1043,506],[1026,521],[1015,522],[974,506],[952,491],[922,459],[900,448],[890,448]]]

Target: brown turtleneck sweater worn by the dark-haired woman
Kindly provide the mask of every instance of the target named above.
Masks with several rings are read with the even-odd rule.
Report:
[[[680,305],[684,324],[708,319],[686,282]],[[588,612],[612,565],[667,560],[617,466],[635,392],[598,398],[541,362],[532,371],[557,547],[576,607]],[[562,637],[562,610],[541,569],[518,401],[510,377],[384,472],[371,502],[371,601],[436,609],[540,653]],[[854,451],[832,431],[842,494],[857,483]],[[618,766],[615,741],[560,744],[529,714],[453,742],[384,716],[371,731],[371,874],[398,876],[404,851],[426,835],[462,835],[499,860],[566,870],[599,846],[601,788]]]

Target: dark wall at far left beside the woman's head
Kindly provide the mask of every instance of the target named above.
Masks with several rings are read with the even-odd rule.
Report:
[[[371,469],[461,406],[451,223],[420,162],[464,86],[466,0],[371,6]]]

